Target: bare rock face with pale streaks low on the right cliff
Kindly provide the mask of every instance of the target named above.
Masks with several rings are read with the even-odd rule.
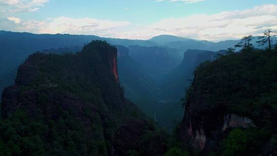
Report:
[[[210,93],[199,93],[194,84],[195,79],[186,102],[185,115],[179,133],[180,141],[184,146],[191,147],[194,153],[205,155],[216,149],[229,132],[227,129],[255,126],[248,117],[229,113],[226,106],[220,103],[209,106],[205,101],[205,95]]]

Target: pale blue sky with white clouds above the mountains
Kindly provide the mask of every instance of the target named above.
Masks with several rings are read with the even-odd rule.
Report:
[[[224,41],[277,29],[277,0],[0,0],[0,30]]]

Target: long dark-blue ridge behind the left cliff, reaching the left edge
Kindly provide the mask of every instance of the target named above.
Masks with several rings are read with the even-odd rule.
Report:
[[[81,50],[85,43],[92,40],[105,40],[110,44],[123,46],[156,45],[151,41],[104,38],[94,35],[32,34],[0,31],[0,92],[4,87],[14,82],[16,75],[14,71],[30,54],[44,49],[53,50],[58,48],[67,48],[76,52]]]

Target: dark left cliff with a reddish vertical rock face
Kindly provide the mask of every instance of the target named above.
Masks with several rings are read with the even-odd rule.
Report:
[[[30,55],[2,95],[1,154],[116,155],[116,127],[147,120],[124,97],[116,57],[102,41],[75,54]]]

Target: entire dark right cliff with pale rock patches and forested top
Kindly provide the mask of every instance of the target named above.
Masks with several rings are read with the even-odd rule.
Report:
[[[179,132],[201,155],[275,155],[277,53],[222,56],[195,70]]]

